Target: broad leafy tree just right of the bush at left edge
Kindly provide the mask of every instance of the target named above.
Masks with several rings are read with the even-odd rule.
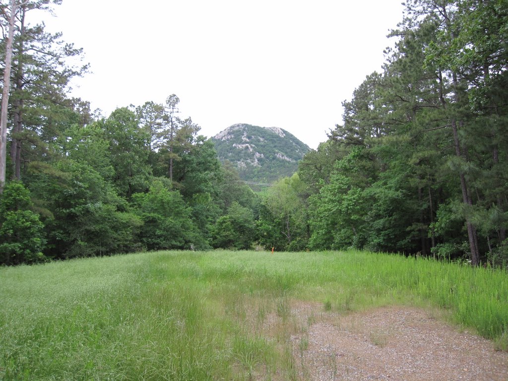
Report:
[[[139,248],[134,239],[139,218],[88,165],[58,161],[51,172],[33,176],[30,187],[49,211],[44,220],[48,256],[88,257]]]

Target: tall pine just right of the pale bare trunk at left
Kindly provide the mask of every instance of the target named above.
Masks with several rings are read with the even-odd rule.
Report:
[[[88,66],[70,65],[66,58],[79,57],[82,49],[63,42],[61,33],[47,33],[44,24],[27,21],[28,12],[47,9],[51,3],[60,1],[19,2],[17,8],[9,99],[10,157],[17,179],[23,163],[40,160],[40,152],[58,136],[62,123],[79,121],[73,108],[80,101],[66,94],[69,81],[84,74]]]

